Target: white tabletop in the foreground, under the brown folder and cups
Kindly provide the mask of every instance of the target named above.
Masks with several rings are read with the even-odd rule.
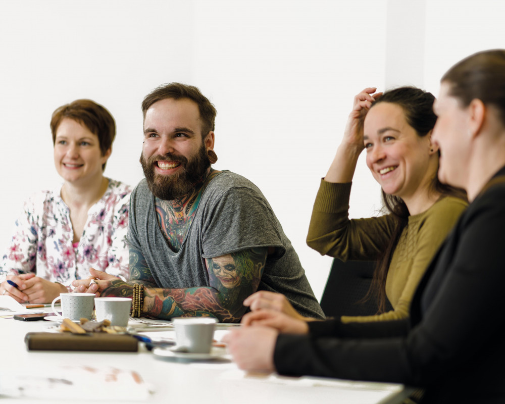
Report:
[[[55,324],[49,321],[24,322],[0,318],[0,386],[11,378],[39,375],[47,380],[56,377],[65,367],[104,370],[109,367],[122,371],[136,371],[153,387],[154,393],[146,400],[129,402],[206,402],[206,403],[396,403],[408,389],[401,385],[384,383],[349,382],[322,378],[285,378],[276,375],[250,375],[238,370],[229,359],[219,361],[181,362],[154,356],[139,344],[138,352],[77,352],[28,351],[24,342],[27,332],[45,331]],[[222,333],[223,331],[220,331]],[[95,400],[79,399],[77,388],[69,387],[69,396],[58,399],[75,404],[89,402],[124,403],[120,400],[100,399],[100,390],[106,389],[102,379],[88,386]],[[128,385],[118,391],[125,395]],[[109,388],[110,390],[110,388]],[[133,390],[129,390],[133,391]],[[133,393],[132,393],[133,394]],[[47,397],[47,396],[46,396]],[[81,396],[82,397],[82,396]],[[127,394],[128,398],[128,394]],[[49,404],[54,399],[12,398],[0,396],[3,404],[36,402]]]

